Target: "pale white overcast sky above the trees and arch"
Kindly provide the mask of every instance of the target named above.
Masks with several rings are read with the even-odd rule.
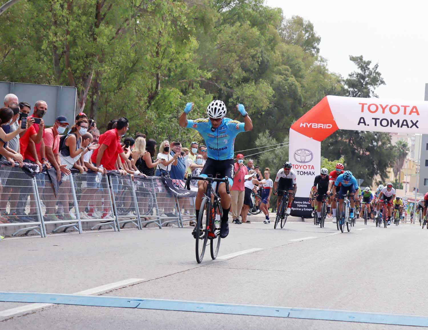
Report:
[[[314,24],[321,37],[320,55],[343,77],[356,66],[349,55],[363,55],[386,85],[376,90],[383,99],[423,100],[428,82],[428,3],[425,1],[266,0],[286,18],[299,15]]]

